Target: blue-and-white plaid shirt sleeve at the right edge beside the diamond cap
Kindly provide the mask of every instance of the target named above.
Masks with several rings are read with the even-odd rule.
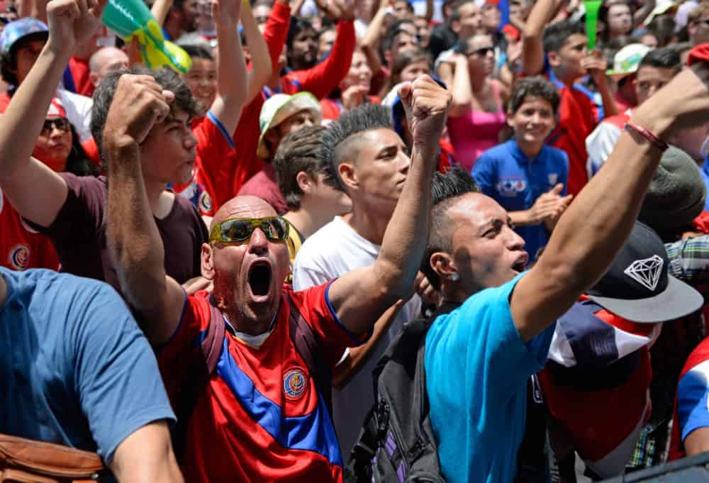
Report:
[[[709,282],[709,235],[666,243],[669,274],[684,282]]]

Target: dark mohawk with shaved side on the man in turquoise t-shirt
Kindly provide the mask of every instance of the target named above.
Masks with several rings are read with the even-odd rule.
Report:
[[[433,174],[431,184],[431,228],[428,245],[421,262],[421,272],[436,290],[440,289],[440,277],[431,267],[431,255],[435,252],[452,252],[451,220],[447,214],[450,206],[467,193],[478,193],[480,189],[467,170],[455,165],[449,172]]]

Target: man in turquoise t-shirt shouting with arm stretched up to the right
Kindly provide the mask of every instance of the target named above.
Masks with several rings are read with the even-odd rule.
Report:
[[[705,75],[706,67],[693,67]],[[708,76],[709,77],[709,76]],[[695,104],[696,103],[696,104]],[[484,194],[434,187],[422,270],[445,304],[425,348],[430,418],[448,483],[510,483],[525,431],[525,382],[547,357],[554,321],[625,243],[677,118],[703,122],[709,91],[694,70],[640,106],[603,171],[559,218],[525,272],[524,240]],[[648,135],[647,132],[652,133]]]

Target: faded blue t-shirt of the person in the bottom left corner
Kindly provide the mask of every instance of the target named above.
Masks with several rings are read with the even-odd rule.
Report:
[[[0,433],[96,451],[174,420],[155,355],[108,284],[0,267]]]

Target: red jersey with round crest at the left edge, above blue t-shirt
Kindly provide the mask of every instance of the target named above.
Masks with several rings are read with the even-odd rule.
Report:
[[[49,268],[59,270],[59,256],[52,240],[22,223],[22,218],[0,191],[0,266],[11,270]]]

